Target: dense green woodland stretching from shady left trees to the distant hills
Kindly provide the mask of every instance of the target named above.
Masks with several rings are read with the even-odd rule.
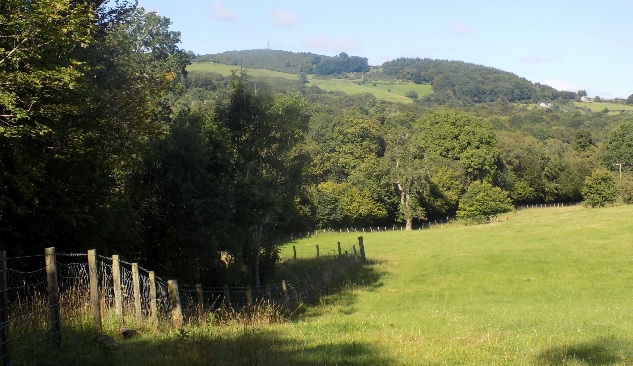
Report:
[[[260,284],[284,233],[468,217],[482,194],[575,202],[598,166],[633,161],[629,114],[575,107],[576,93],[504,71],[395,60],[367,80],[434,87],[396,104],[306,80],[187,74],[192,52],[169,24],[100,0],[3,3],[2,250],[97,248],[183,281]],[[365,58],[283,53],[296,61],[266,68],[367,71]],[[545,99],[553,107],[527,104]],[[623,170],[618,199],[630,202]]]

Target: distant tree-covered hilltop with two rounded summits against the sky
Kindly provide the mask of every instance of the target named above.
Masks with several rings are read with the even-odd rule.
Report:
[[[534,103],[558,99],[570,100],[577,97],[575,92],[561,92],[548,85],[532,83],[508,71],[463,61],[398,58],[387,61],[381,66],[370,67],[367,58],[348,56],[345,52],[336,56],[326,56],[311,52],[267,49],[227,51],[219,54],[206,54],[192,59],[192,63],[208,62],[299,75],[299,80],[304,83],[313,82],[315,79],[334,78],[337,80],[360,80],[363,85],[370,82],[374,87],[377,86],[374,85],[375,83],[428,85],[432,88],[434,95],[427,97],[426,101],[437,104],[443,104],[451,98],[466,102],[493,102],[505,99],[510,102]],[[320,83],[325,84],[325,88],[332,90],[332,85]],[[340,84],[337,82],[337,87],[340,87]],[[322,87],[322,85],[318,86]],[[360,90],[356,87],[348,88],[345,85],[344,88],[346,92],[349,90],[372,92],[372,90]],[[375,92],[385,94],[387,88],[382,89],[375,90]],[[425,92],[417,87],[410,88],[410,90],[417,92],[420,98],[430,94],[430,90]],[[422,91],[422,95],[420,95],[420,91]],[[372,92],[372,94],[374,93]],[[403,97],[404,92],[399,96]],[[383,99],[390,99],[389,95],[385,94]]]

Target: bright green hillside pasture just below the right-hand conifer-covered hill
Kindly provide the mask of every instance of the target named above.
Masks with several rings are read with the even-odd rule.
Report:
[[[374,87],[371,82],[364,85],[358,85],[359,80],[346,79],[330,79],[330,80],[310,80],[310,85],[316,85],[323,90],[341,90],[346,94],[372,93],[378,99],[385,99],[392,102],[410,103],[413,99],[405,97],[404,93],[415,90],[418,97],[422,98],[427,94],[431,94],[433,89],[431,85],[406,84],[406,85],[387,85],[377,83]],[[391,93],[387,90],[391,89]]]

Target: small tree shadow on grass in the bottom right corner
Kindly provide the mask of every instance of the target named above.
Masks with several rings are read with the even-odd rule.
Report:
[[[631,344],[617,338],[596,338],[575,345],[551,346],[539,355],[542,365],[567,365],[582,362],[584,365],[621,365],[630,359]]]

